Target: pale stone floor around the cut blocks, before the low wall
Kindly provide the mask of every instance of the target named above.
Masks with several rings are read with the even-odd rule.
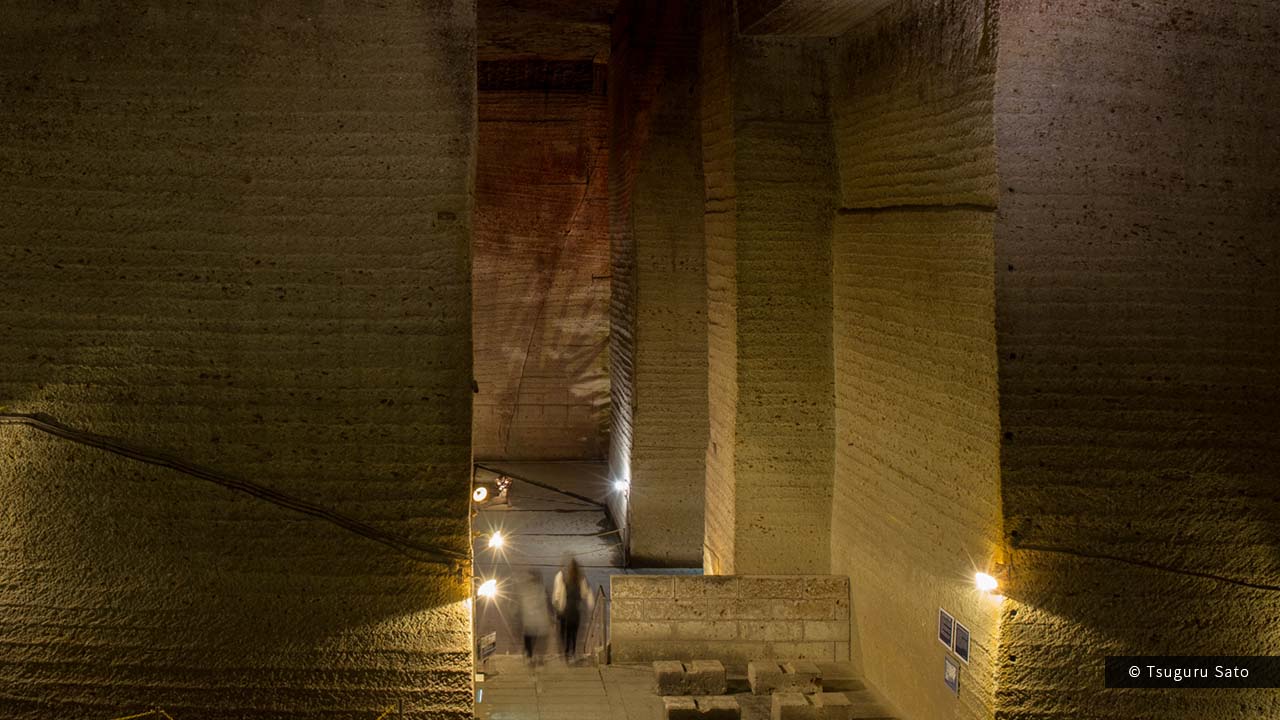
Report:
[[[858,680],[847,664],[819,664],[823,687],[845,692],[858,720],[893,720],[893,714]],[[654,694],[652,665],[566,666],[548,660],[530,667],[518,655],[495,655],[476,683],[475,716],[485,720],[658,720],[662,698]],[[731,694],[742,720],[768,720],[769,696],[753,696],[746,678],[730,674]]]

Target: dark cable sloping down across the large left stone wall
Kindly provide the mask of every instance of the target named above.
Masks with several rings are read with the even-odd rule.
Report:
[[[349,518],[334,510],[329,510],[314,502],[306,500],[300,500],[288,496],[280,491],[271,489],[265,486],[260,486],[251,480],[244,480],[241,478],[233,478],[204,468],[192,462],[187,462],[165,452],[156,450],[150,450],[128,443],[119,438],[113,438],[108,436],[100,436],[96,433],[90,433],[86,430],[79,430],[69,425],[59,423],[54,418],[44,414],[26,414],[26,413],[0,413],[0,425],[27,425],[37,430],[42,430],[54,437],[63,439],[69,439],[81,445],[87,445],[91,447],[97,447],[131,460],[137,460],[140,462],[147,462],[148,465],[157,465],[160,468],[169,468],[179,473],[191,475],[193,478],[200,478],[202,480],[211,482],[214,484],[221,486],[227,489],[236,491],[239,493],[256,497],[270,502],[271,505],[278,505],[296,512],[302,512],[303,515],[310,515],[312,518],[324,520],[333,525],[337,525],[347,532],[355,533],[364,538],[371,539],[374,542],[385,544],[392,550],[404,555],[411,560],[419,562],[428,562],[434,565],[457,565],[470,560],[470,555],[466,552],[458,552],[447,547],[424,544],[417,541],[406,538],[401,534],[383,530],[375,528],[355,518]]]

